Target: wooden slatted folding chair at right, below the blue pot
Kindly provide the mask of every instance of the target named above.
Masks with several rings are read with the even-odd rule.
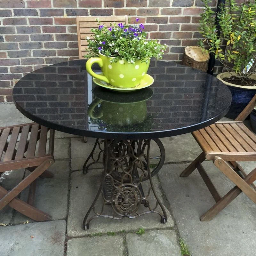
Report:
[[[243,123],[255,106],[256,94],[235,121],[217,122],[192,132],[203,152],[188,165],[180,177],[187,177],[197,168],[216,201],[216,204],[200,217],[201,221],[212,220],[242,191],[256,203],[256,187],[252,184],[256,180],[256,168],[246,174],[236,162],[256,161],[256,136]],[[236,186],[225,196],[219,195],[205,172],[201,164],[205,159],[212,160],[219,170],[235,183]]]

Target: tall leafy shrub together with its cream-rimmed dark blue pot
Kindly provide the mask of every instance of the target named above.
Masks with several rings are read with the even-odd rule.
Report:
[[[232,93],[226,116],[235,119],[256,93],[256,1],[242,4],[235,0],[226,1],[217,13],[219,26],[215,24],[210,1],[202,1],[205,11],[201,14],[200,29],[204,39],[200,39],[199,44],[201,47],[207,45],[207,51],[214,54],[227,70],[217,78]]]

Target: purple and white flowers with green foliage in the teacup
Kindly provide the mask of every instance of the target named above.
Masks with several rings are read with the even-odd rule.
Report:
[[[129,63],[136,60],[148,63],[151,57],[162,58],[166,50],[166,44],[162,45],[157,40],[146,40],[147,34],[143,31],[144,25],[122,23],[110,24],[107,28],[98,21],[98,28],[92,28],[93,38],[87,37],[88,51],[85,58],[98,57],[99,51],[106,55],[115,57],[112,61],[124,59]],[[140,19],[136,19],[137,22]]]

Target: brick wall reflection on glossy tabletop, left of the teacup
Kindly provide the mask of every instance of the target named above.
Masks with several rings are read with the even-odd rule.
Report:
[[[84,106],[88,105],[84,70],[56,65],[45,67],[42,72],[44,74],[37,70],[36,74],[29,74],[19,82],[23,87],[16,90],[23,94],[19,95],[19,105],[38,117],[47,116],[46,119],[54,123],[60,120],[62,125],[88,127],[88,116],[84,114]],[[34,79],[36,81],[31,82]]]

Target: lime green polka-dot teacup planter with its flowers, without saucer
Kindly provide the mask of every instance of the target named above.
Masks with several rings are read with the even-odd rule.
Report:
[[[140,19],[136,19],[138,22]],[[143,24],[116,24],[109,28],[101,25],[92,28],[93,38],[88,40],[85,58],[88,73],[108,84],[120,88],[131,88],[140,83],[148,71],[150,58],[162,58],[166,44],[147,40]],[[102,75],[92,71],[92,64],[98,63]]]

